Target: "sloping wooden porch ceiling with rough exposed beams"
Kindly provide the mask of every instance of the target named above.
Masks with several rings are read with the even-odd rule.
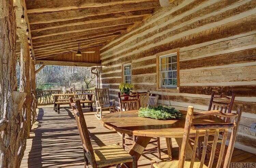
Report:
[[[78,42],[81,50],[91,51],[152,15],[160,7],[159,0],[25,2],[36,60],[77,51]],[[19,51],[16,53],[20,54]]]

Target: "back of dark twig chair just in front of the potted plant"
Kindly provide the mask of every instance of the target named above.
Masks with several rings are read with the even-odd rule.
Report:
[[[128,97],[128,99],[125,99],[125,97]],[[119,100],[120,111],[140,109],[140,98],[139,98],[138,92],[134,96],[129,94],[121,95],[120,92],[118,92],[118,100]]]

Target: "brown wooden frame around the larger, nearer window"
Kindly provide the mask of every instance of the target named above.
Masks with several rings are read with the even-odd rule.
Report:
[[[161,82],[159,81],[160,78],[160,60],[159,58],[161,56],[169,55],[169,54],[174,54],[177,53],[177,87],[169,88],[166,87],[167,90],[179,90],[180,88],[180,49],[173,49],[173,50],[168,50],[164,51],[161,53],[156,54],[156,89],[165,89],[161,87]]]

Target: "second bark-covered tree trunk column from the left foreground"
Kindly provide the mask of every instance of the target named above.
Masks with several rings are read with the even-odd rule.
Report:
[[[31,90],[30,90],[30,56],[27,36],[20,34],[20,85],[19,91],[27,93],[24,105],[23,115],[27,122],[27,137],[31,130]]]

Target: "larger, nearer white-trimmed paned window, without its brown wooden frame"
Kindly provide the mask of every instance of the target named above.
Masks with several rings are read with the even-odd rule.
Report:
[[[159,81],[161,88],[177,87],[177,53],[159,57]]]

